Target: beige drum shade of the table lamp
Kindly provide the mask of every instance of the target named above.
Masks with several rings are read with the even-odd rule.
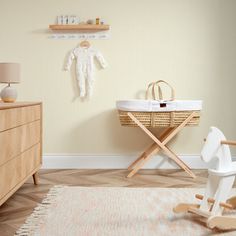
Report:
[[[0,83],[20,83],[20,64],[0,63]]]

